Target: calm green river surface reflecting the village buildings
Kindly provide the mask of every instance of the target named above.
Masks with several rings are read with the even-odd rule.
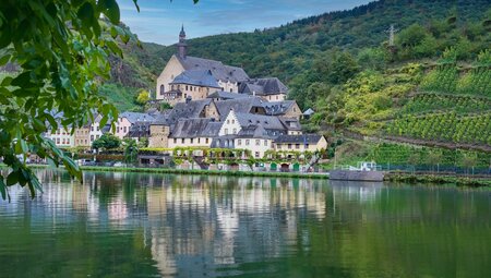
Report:
[[[0,277],[490,277],[491,191],[40,170]]]

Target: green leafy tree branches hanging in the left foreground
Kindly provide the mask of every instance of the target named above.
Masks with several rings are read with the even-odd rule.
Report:
[[[61,125],[71,129],[86,124],[94,110],[101,125],[117,119],[117,109],[98,95],[98,81],[109,77],[108,56],[122,57],[118,41],[140,44],[119,21],[116,0],[0,1],[0,67],[16,69],[0,80],[0,157],[11,169],[0,177],[3,198],[14,184],[27,185],[33,197],[41,190],[27,154],[63,164],[82,180],[77,165],[43,134],[47,122],[58,129],[52,113],[62,113]]]

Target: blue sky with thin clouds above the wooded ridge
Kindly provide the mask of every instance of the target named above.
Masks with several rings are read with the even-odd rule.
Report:
[[[330,11],[349,10],[371,0],[119,0],[121,21],[142,41],[177,43],[181,24],[187,38],[252,32]]]

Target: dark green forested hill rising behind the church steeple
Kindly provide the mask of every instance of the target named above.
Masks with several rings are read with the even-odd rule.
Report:
[[[278,76],[286,83],[322,51],[380,46],[391,24],[405,28],[414,23],[436,25],[454,15],[457,24],[478,21],[490,9],[489,0],[381,0],[349,11],[330,12],[280,27],[252,33],[225,34],[189,39],[190,55],[241,65],[251,76]],[[192,34],[192,31],[188,33]],[[177,39],[178,31],[176,31]],[[176,51],[175,46],[145,44],[149,60],[142,62],[158,74]],[[145,57],[142,57],[145,58]]]

